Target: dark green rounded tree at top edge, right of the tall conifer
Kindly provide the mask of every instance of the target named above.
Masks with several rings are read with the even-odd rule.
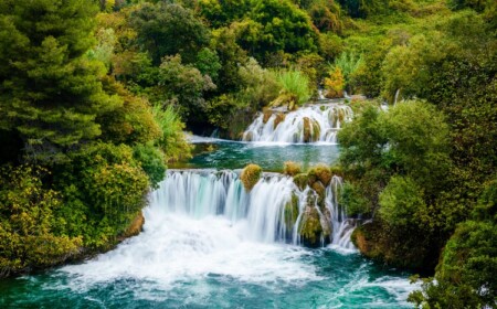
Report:
[[[180,54],[187,63],[195,61],[197,51],[209,43],[209,30],[180,4],[159,1],[144,3],[131,13],[138,44],[159,64],[163,56]]]

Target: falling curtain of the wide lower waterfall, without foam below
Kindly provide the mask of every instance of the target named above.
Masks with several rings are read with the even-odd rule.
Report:
[[[243,188],[237,171],[231,170],[169,170],[167,178],[150,196],[155,213],[178,214],[198,220],[208,216],[223,216],[232,224],[244,224],[244,236],[262,243],[300,244],[302,220],[309,199],[319,214],[320,224],[330,231],[331,243],[352,248],[350,234],[353,225],[337,203],[337,191],[341,179],[335,177],[326,190],[326,209],[317,205],[317,193],[309,189],[299,190],[290,177],[264,173],[250,191]],[[292,203],[296,203],[293,213]],[[326,211],[326,212],[325,212]]]

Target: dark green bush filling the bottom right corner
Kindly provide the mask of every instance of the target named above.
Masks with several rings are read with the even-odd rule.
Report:
[[[409,300],[423,308],[491,308],[497,298],[497,181],[479,199],[472,220],[458,225],[447,242],[435,279]]]

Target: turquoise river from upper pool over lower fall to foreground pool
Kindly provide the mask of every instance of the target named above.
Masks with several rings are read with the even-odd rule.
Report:
[[[284,223],[285,203],[304,193],[272,172],[287,160],[331,163],[337,145],[192,141],[201,151],[150,194],[141,234],[76,265],[1,280],[0,308],[412,307],[410,274],[361,257],[348,238],[306,248]],[[246,193],[239,169],[248,162],[271,172]]]

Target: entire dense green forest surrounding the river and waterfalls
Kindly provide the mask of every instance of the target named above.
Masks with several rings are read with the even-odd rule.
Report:
[[[432,276],[415,306],[493,308],[496,72],[494,0],[0,0],[0,277],[138,233],[183,130],[325,89],[368,98],[331,169],[355,244]]]

